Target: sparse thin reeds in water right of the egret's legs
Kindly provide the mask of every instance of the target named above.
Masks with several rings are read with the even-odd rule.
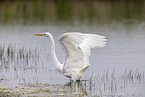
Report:
[[[139,69],[126,68],[122,75],[116,76],[115,74],[115,69],[112,71],[104,70],[102,74],[92,74],[89,82],[84,83],[85,88],[90,90],[88,94],[121,96],[128,86],[133,87],[134,83],[144,83],[144,72],[139,71]]]

